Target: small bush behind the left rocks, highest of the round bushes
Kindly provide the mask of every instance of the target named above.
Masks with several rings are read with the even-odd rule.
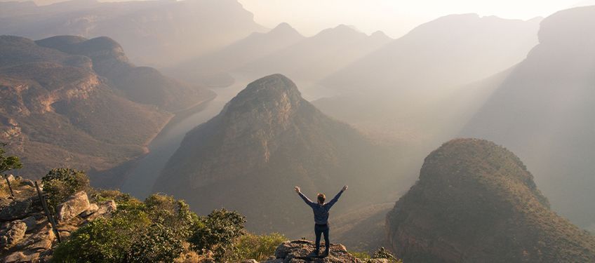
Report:
[[[41,178],[44,192],[48,193],[48,205],[55,209],[77,191],[89,189],[89,177],[81,170],[54,168]]]

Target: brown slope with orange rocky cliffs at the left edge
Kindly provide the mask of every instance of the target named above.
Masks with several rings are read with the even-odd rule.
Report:
[[[95,57],[69,55],[19,36],[0,36],[0,57],[0,141],[22,156],[22,173],[30,177],[62,166],[91,171],[118,166],[144,154],[171,117],[128,100],[114,81],[93,70]]]

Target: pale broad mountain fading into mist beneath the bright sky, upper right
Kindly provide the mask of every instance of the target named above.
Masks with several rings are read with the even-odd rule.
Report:
[[[402,93],[479,81],[521,62],[537,44],[539,22],[447,15],[416,27],[323,83],[340,89]]]

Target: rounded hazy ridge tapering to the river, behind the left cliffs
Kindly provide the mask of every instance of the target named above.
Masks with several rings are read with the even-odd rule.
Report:
[[[212,96],[204,88],[169,79],[151,67],[135,67],[128,61],[119,43],[105,36],[89,40],[80,36],[53,36],[35,43],[91,58],[93,70],[109,79],[134,102],[153,104],[175,112]]]

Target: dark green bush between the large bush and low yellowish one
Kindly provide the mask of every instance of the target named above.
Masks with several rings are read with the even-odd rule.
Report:
[[[212,251],[218,261],[233,247],[234,241],[244,234],[246,217],[225,209],[213,210],[194,227],[189,242],[197,252]]]

